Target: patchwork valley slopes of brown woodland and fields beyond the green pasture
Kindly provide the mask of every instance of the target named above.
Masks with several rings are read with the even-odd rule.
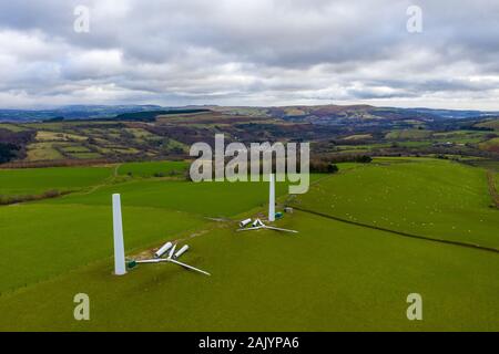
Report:
[[[215,134],[224,134],[227,143],[310,142],[318,155],[497,157],[497,121],[469,117],[470,112],[434,113],[366,105],[141,110],[112,119],[4,123],[0,140],[22,135],[19,153],[7,162],[45,166],[85,159],[182,159],[192,144],[212,144]]]

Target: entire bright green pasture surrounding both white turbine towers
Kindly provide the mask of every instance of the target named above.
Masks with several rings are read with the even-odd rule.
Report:
[[[489,208],[483,169],[428,158],[339,166],[291,200],[346,220],[498,246],[499,211]],[[499,331],[498,253],[298,210],[276,222],[297,235],[236,232],[240,218],[265,212],[266,183],[144,178],[156,169],[151,163],[118,171],[131,167],[138,178],[0,207],[0,330]],[[289,199],[285,187],[277,187],[281,202]],[[174,264],[112,275],[116,191],[128,257],[182,240],[191,246],[182,259],[212,277]],[[88,322],[73,319],[81,292],[91,301]],[[414,292],[422,321],[406,317]]]

